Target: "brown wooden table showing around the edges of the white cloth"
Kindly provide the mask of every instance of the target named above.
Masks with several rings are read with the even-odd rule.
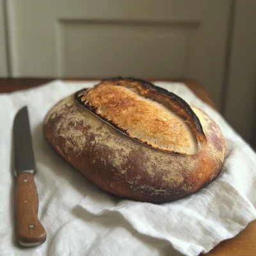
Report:
[[[13,92],[15,90],[24,90],[52,81],[52,78],[0,78],[0,93]],[[73,79],[64,80],[99,80],[94,79]],[[152,81],[153,79],[145,79]],[[212,108],[218,110],[216,104],[209,97],[202,85],[193,79],[159,79],[154,81],[178,81],[185,83],[200,99],[207,102]],[[243,209],[241,209],[243,211]],[[256,255],[256,221],[252,221],[240,234],[232,239],[221,242],[207,256],[255,256]]]

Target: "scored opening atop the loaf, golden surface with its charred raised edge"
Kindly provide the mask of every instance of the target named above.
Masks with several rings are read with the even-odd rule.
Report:
[[[138,79],[110,79],[78,92],[76,98],[131,138],[167,152],[196,154],[205,138],[199,120],[199,128],[195,125],[195,113],[177,95],[168,97],[167,91],[152,86]]]

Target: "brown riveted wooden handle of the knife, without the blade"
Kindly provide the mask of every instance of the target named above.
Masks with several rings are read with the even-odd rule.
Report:
[[[19,244],[37,246],[45,242],[46,232],[37,217],[38,195],[32,173],[17,177],[16,228]]]

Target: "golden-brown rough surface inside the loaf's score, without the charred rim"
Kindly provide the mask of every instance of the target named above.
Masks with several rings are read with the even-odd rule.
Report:
[[[177,115],[124,86],[100,84],[85,95],[86,102],[97,108],[97,114],[106,116],[132,138],[163,150],[183,148],[186,152],[197,146],[193,132]]]

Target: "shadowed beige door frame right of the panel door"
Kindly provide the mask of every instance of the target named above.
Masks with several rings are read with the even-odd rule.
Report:
[[[223,115],[252,143],[256,122],[256,1],[234,0]]]

